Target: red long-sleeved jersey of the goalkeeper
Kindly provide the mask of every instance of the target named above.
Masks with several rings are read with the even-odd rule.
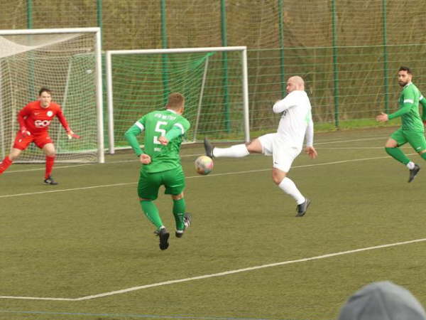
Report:
[[[69,131],[70,127],[68,127],[67,119],[62,114],[60,105],[55,102],[50,102],[49,107],[46,108],[40,105],[39,100],[28,103],[18,113],[18,122],[21,127],[26,127],[31,134],[38,134],[48,131],[50,122],[55,116],[58,117],[62,127]]]

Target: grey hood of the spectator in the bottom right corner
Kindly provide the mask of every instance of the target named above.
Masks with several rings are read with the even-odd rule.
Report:
[[[426,320],[426,313],[411,292],[384,281],[355,292],[340,310],[339,320]]]

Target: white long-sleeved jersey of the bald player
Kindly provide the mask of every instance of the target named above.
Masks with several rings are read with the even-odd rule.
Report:
[[[312,146],[314,127],[312,107],[305,91],[295,90],[273,105],[273,112],[281,113],[277,133],[288,146],[302,149],[306,134],[306,145]]]

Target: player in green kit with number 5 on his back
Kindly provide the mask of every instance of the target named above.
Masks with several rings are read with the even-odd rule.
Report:
[[[153,203],[158,198],[160,186],[165,186],[165,193],[173,199],[176,237],[181,238],[185,228],[190,225],[190,215],[185,213],[185,175],[179,155],[182,137],[190,129],[190,122],[182,117],[184,108],[185,98],[178,92],[172,93],[165,110],[145,114],[125,134],[142,164],[138,182],[139,201],[143,213],[155,225],[155,234],[160,238],[160,250],[168,248],[170,235]],[[137,139],[141,132],[145,133],[143,149]]]

